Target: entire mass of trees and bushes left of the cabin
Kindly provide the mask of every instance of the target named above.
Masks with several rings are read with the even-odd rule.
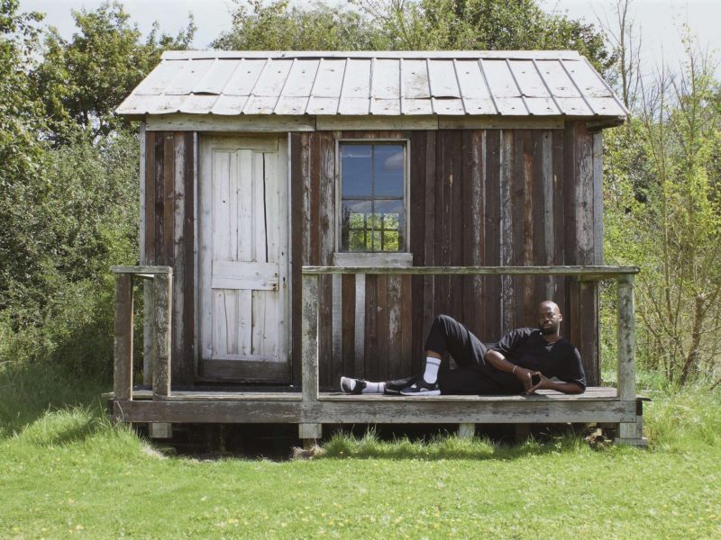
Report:
[[[114,108],[157,63],[185,48],[191,22],[147,40],[122,5],[74,17],[63,40],[14,0],[0,2],[0,365],[112,370],[109,267],[138,254],[138,139]]]

